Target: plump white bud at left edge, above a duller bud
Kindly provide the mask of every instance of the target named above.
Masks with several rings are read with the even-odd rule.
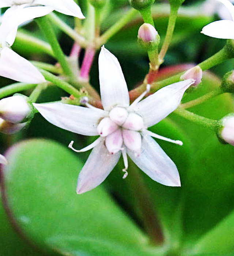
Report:
[[[21,123],[31,114],[27,97],[15,95],[0,100],[0,117],[11,123]]]

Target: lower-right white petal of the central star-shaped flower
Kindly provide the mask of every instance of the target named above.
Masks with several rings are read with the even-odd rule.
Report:
[[[180,176],[174,162],[148,135],[143,135],[141,154],[127,149],[132,161],[153,180],[171,187],[180,187]]]

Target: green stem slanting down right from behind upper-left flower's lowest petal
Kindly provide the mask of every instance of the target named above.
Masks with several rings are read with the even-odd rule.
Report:
[[[43,69],[39,69],[39,71],[41,72],[42,75],[44,75],[47,81],[52,82],[53,84],[56,84],[58,87],[60,87],[67,93],[73,95],[74,97],[78,97],[80,95],[80,92],[77,89],[75,89],[71,84],[61,80],[57,76],[54,76]]]

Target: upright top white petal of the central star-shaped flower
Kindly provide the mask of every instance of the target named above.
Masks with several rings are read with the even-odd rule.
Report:
[[[117,58],[102,46],[98,59],[102,105],[105,110],[113,106],[129,106],[127,84]]]

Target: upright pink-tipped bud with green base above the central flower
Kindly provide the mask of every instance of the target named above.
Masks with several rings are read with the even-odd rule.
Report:
[[[160,37],[154,26],[144,23],[138,30],[138,43],[148,51],[154,50],[160,43]]]

